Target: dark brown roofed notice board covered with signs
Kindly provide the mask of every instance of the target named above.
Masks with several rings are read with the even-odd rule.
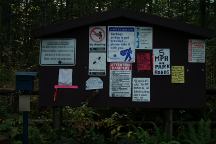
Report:
[[[41,41],[42,106],[85,101],[96,107],[204,105],[207,30],[109,11],[43,27],[35,37]]]

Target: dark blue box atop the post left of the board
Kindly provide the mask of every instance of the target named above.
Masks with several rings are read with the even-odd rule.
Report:
[[[33,91],[37,72],[16,72],[16,90]]]

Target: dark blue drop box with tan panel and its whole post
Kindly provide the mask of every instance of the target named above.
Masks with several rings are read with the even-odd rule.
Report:
[[[30,96],[34,89],[34,79],[37,72],[16,72],[16,91],[19,94],[19,111],[23,112],[23,144],[28,144],[28,112],[30,111]],[[23,95],[22,95],[23,94]]]

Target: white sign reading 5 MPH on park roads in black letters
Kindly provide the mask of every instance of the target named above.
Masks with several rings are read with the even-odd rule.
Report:
[[[170,49],[153,49],[153,75],[170,75]]]

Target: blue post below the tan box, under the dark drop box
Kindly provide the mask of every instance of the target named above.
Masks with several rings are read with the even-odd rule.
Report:
[[[28,144],[28,112],[23,112],[23,144]]]

